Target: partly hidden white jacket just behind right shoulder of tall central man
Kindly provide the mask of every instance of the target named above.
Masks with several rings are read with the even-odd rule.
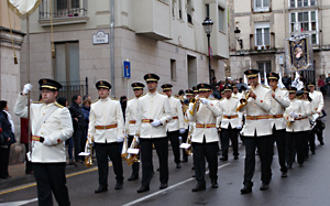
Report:
[[[172,120],[166,124],[166,130],[176,131],[180,128],[185,128],[182,101],[173,96],[170,96],[168,100],[172,110]]]

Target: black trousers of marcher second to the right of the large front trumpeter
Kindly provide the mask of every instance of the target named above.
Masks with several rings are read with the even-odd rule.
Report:
[[[306,142],[308,132],[307,131],[299,131],[299,132],[287,132],[288,134],[288,165],[293,165],[295,161],[295,156],[297,153],[297,162],[298,164],[304,164],[305,161],[305,150],[306,150]]]

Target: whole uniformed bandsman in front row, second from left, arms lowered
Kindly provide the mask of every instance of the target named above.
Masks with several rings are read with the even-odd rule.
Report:
[[[108,156],[116,174],[114,189],[121,189],[123,185],[119,142],[123,139],[124,122],[120,102],[109,97],[111,85],[99,80],[96,87],[100,99],[90,106],[88,138],[95,142],[99,171],[99,187],[95,193],[102,193],[108,191]]]

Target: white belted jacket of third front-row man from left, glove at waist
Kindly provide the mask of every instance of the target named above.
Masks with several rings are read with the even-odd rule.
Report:
[[[167,96],[155,91],[139,98],[136,134],[140,134],[140,138],[165,138],[166,123],[170,119],[172,110]],[[153,120],[160,120],[162,124],[153,127],[151,124]]]

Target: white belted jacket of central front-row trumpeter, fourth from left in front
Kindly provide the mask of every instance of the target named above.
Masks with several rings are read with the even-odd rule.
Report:
[[[190,113],[191,106],[189,107],[188,118],[195,122],[191,142],[202,143],[204,138],[207,143],[219,141],[216,126],[217,117],[221,115],[219,100],[208,100],[207,105],[200,102],[199,109],[195,111],[194,116]]]

